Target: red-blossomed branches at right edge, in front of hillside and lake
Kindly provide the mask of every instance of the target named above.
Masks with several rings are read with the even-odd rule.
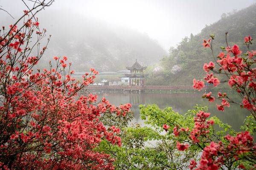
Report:
[[[204,40],[203,46],[204,48],[211,49],[215,63],[209,62],[204,64],[204,71],[207,72],[204,80],[216,87],[220,84],[220,81],[215,77],[214,73],[224,75],[221,82],[227,82],[227,85],[239,94],[241,101],[234,101],[232,97],[221,92],[218,92],[218,96],[212,96],[212,93],[210,92],[204,94],[203,97],[209,99],[209,102],[213,102],[215,99],[220,99],[222,101],[221,105],[217,105],[219,111],[224,111],[225,107],[230,107],[230,103],[239,104],[242,108],[246,108],[250,111],[256,120],[256,51],[250,50],[250,45],[252,44],[253,39],[250,36],[244,37],[244,44],[247,47],[247,51],[244,54],[239,50],[238,45],[233,45],[231,47],[226,41],[227,47],[221,47],[222,51],[215,57],[212,48],[214,35],[211,35],[210,37],[211,39]],[[212,73],[208,74],[209,71],[212,71]],[[204,82],[194,79],[193,87],[201,90],[204,88]]]

